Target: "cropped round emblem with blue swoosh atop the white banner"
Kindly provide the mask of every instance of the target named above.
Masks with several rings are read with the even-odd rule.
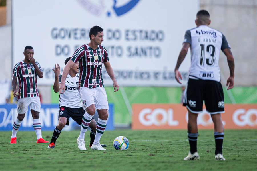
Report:
[[[106,13],[107,17],[117,15],[118,17],[127,13],[136,6],[139,0],[113,0],[113,3],[106,3],[105,0],[77,0],[77,2],[93,15],[100,16]]]

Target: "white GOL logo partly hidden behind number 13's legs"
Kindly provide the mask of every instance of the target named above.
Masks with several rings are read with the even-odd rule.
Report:
[[[188,112],[186,113],[186,122],[188,122]],[[222,123],[224,126],[226,125],[225,121],[222,121]],[[212,117],[211,117],[210,113],[208,113],[206,111],[206,109],[203,109],[202,113],[198,114],[197,125],[202,125],[204,127],[207,127],[212,124],[213,124],[213,122],[212,122]]]

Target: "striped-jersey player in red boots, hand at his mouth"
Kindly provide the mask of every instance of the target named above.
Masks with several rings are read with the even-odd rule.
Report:
[[[21,122],[25,113],[30,108],[33,117],[33,128],[37,135],[37,143],[49,143],[42,138],[41,123],[39,119],[40,99],[37,91],[37,76],[43,77],[43,72],[37,61],[33,58],[34,50],[31,46],[24,49],[24,60],[15,64],[13,68],[12,88],[13,95],[17,97],[18,117],[13,123],[11,144],[16,144],[16,134],[21,127]],[[19,80],[19,89],[16,89],[17,78]]]

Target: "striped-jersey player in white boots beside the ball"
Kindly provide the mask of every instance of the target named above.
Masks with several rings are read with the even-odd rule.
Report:
[[[113,69],[109,62],[107,50],[101,46],[103,42],[103,29],[94,26],[89,31],[90,42],[79,47],[73,54],[71,60],[63,69],[63,76],[59,91],[61,94],[65,91],[65,79],[70,68],[79,61],[79,92],[83,101],[83,108],[86,110],[81,124],[81,132],[78,141],[84,139],[84,134],[97,110],[99,119],[97,121],[97,132],[95,141],[91,149],[106,150],[100,144],[100,138],[103,135],[108,118],[108,101],[104,89],[102,78],[102,64],[108,75],[113,80],[114,92],[119,90],[119,85],[115,79]]]

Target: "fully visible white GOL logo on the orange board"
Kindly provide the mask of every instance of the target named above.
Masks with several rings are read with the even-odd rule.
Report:
[[[178,121],[173,120],[173,109],[168,109],[168,111],[157,108],[157,109],[150,109],[145,108],[142,109],[138,116],[139,121],[144,126],[150,126],[150,125],[166,125],[169,126],[178,126]]]

